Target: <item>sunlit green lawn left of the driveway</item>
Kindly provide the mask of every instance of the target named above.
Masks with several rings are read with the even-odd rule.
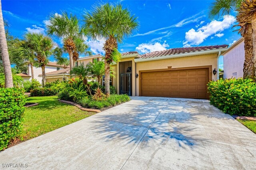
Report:
[[[25,110],[20,137],[24,140],[94,115],[94,113],[81,111],[75,106],[59,102],[57,96],[28,97],[26,102],[39,104]]]

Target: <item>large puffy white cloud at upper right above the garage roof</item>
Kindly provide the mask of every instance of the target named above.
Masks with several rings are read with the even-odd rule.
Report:
[[[236,22],[234,16],[224,16],[222,21],[213,20],[208,23],[206,26],[194,30],[193,28],[186,32],[185,42],[183,45],[199,45],[204,42],[209,36],[215,35],[217,32],[222,32],[223,30],[229,28],[232,24]]]

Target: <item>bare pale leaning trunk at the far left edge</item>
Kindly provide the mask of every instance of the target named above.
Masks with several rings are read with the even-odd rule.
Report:
[[[2,55],[2,62],[4,65],[5,88],[13,87],[12,69],[8,54],[6,36],[4,31],[4,19],[2,14],[2,3],[0,1],[0,49]]]

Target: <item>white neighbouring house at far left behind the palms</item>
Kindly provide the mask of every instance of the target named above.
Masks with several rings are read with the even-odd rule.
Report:
[[[59,65],[56,62],[48,62],[48,64],[45,67],[45,73],[49,73],[52,71],[58,71],[64,69],[64,65]],[[42,68],[38,67],[36,68],[35,66],[33,67],[34,70],[34,79],[42,83],[42,76],[39,76],[42,74]],[[31,65],[28,65],[28,75],[31,76]]]

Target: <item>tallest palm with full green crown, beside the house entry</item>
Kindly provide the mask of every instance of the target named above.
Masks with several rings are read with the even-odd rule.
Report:
[[[94,40],[105,38],[105,93],[110,94],[110,63],[114,59],[113,51],[117,51],[118,42],[132,34],[138,28],[137,17],[130,14],[127,8],[121,4],[110,4],[109,2],[95,6],[91,12],[85,12],[84,28]]]

